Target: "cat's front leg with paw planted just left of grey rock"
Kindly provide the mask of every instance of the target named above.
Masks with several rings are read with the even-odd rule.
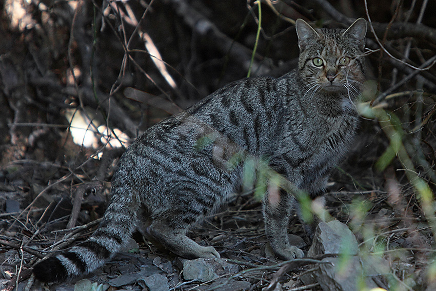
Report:
[[[274,253],[284,260],[304,257],[301,249],[289,243],[288,224],[295,198],[281,189],[269,189],[263,201],[265,231]]]

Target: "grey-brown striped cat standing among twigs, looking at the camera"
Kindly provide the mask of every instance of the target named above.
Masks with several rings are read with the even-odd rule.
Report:
[[[247,157],[268,161],[295,188],[321,197],[358,127],[353,101],[364,82],[367,26],[360,18],[348,29],[313,29],[303,20],[295,27],[298,70],[279,79],[233,82],[145,131],[120,159],[100,226],[85,242],[38,262],[36,278],[62,281],[95,270],[140,225],[148,238],[176,255],[220,257],[186,232],[240,185]],[[265,189],[263,214],[272,249],[282,259],[303,257],[287,234],[298,209],[295,193]]]

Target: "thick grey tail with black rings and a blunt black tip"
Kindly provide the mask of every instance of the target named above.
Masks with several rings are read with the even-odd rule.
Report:
[[[33,266],[36,279],[62,282],[85,275],[103,266],[120,251],[135,230],[136,207],[126,187],[113,189],[112,201],[94,234],[70,250],[36,263]]]

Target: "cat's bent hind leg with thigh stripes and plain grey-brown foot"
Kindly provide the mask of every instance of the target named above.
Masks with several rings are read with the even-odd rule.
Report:
[[[166,201],[162,203],[165,207],[153,209],[149,206],[151,224],[147,233],[158,244],[181,257],[220,258],[213,247],[201,246],[186,236],[187,230],[210,215],[228,192],[215,181],[199,176],[199,172],[197,170],[195,175],[188,172],[193,177],[167,184]]]

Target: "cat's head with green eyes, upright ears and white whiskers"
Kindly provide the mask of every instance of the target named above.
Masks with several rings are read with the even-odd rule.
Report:
[[[347,29],[313,29],[304,20],[295,23],[300,47],[299,74],[310,95],[348,93],[355,96],[365,80],[366,21]]]

